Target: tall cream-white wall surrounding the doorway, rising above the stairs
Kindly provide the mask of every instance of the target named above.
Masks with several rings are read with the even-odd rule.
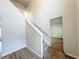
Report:
[[[49,34],[49,20],[62,16],[64,25],[64,51],[66,54],[72,56],[78,56],[75,2],[75,0],[42,0],[42,6],[36,12],[33,19],[36,24],[39,24]]]

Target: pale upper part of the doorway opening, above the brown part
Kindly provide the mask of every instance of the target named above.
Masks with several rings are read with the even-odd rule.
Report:
[[[50,20],[50,34],[54,38],[63,38],[62,17],[57,17]]]

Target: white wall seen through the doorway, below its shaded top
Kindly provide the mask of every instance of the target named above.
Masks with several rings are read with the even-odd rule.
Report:
[[[51,37],[63,38],[63,27],[62,23],[53,23],[51,24]]]

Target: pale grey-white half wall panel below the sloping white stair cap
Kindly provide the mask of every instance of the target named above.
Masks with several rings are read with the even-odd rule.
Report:
[[[41,34],[37,32],[28,22],[26,22],[26,25],[27,47],[41,57]]]

